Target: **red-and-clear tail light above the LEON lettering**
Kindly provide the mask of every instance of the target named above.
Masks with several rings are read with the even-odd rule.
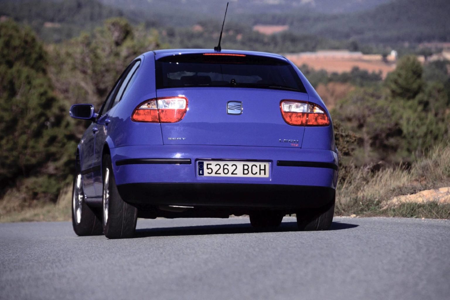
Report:
[[[286,123],[294,126],[328,126],[330,118],[325,110],[311,102],[282,100],[281,115]]]

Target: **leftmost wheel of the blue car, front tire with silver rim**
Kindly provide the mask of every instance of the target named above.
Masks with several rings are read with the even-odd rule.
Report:
[[[78,236],[103,233],[102,220],[86,204],[83,180],[78,166],[76,166],[76,176],[72,186],[72,226]]]

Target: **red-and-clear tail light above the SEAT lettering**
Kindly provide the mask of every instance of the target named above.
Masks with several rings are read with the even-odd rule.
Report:
[[[176,123],[183,120],[188,111],[188,99],[184,96],[158,97],[140,103],[131,120],[135,122]]]

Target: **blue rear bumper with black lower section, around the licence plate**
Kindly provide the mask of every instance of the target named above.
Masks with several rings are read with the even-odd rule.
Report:
[[[125,201],[151,205],[317,207],[334,197],[337,153],[323,149],[236,146],[112,148]],[[268,178],[199,176],[199,160],[269,162]]]

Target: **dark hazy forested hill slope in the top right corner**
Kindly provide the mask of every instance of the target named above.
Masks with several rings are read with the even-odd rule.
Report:
[[[394,0],[357,13],[324,15],[297,11],[241,18],[250,25],[288,25],[297,33],[337,40],[396,44],[450,41],[449,16],[449,0]]]

